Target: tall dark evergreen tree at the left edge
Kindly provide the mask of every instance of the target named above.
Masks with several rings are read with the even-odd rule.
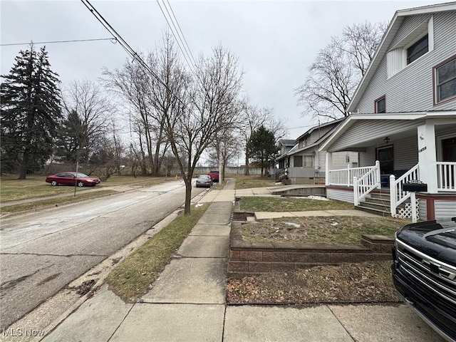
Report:
[[[33,44],[19,51],[14,66],[0,86],[2,172],[41,169],[52,154],[56,128],[61,120],[57,73],[51,71],[48,53]]]

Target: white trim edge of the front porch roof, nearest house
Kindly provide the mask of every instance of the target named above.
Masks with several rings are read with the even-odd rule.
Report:
[[[338,130],[331,135],[323,145],[318,149],[319,151],[328,150],[334,142],[341,138],[351,126],[359,120],[420,120],[420,119],[450,119],[456,120],[456,110],[431,110],[427,112],[408,112],[408,113],[385,113],[385,114],[352,114]]]

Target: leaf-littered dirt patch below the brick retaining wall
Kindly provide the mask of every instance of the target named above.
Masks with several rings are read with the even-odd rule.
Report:
[[[231,278],[227,282],[227,303],[398,302],[391,262],[366,261]]]

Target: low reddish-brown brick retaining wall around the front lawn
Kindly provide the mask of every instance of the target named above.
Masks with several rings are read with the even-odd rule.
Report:
[[[232,221],[229,274],[261,274],[310,266],[392,259],[393,238],[363,235],[362,245],[247,242],[241,224]]]

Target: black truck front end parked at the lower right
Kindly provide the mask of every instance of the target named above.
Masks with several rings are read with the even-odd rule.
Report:
[[[456,341],[456,217],[408,224],[395,234],[393,281],[447,341]]]

